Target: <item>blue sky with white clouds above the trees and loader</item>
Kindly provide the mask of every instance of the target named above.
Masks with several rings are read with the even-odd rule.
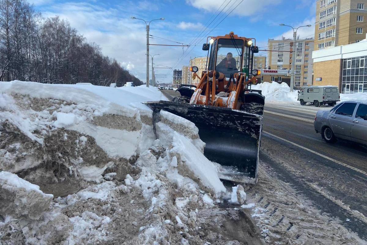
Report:
[[[230,31],[239,36],[254,37],[257,46],[267,46],[268,39],[279,39],[282,35],[292,37],[288,27],[280,23],[298,26],[311,24],[311,28],[299,29],[299,36],[313,37],[316,5],[315,0],[106,0],[106,1],[57,1],[30,0],[44,17],[59,15],[83,34],[88,42],[95,42],[102,53],[116,58],[132,74],[142,81],[146,77],[146,32],[145,24],[132,20],[131,16],[147,21],[150,34],[186,44],[189,48],[150,46],[150,54],[159,65],[181,69],[188,65],[190,57],[204,56],[202,43],[207,35],[224,35]],[[241,2],[241,3],[240,3]],[[227,5],[228,4],[228,5]],[[237,8],[235,8],[238,5]],[[225,7],[226,6],[226,7]],[[221,14],[210,24],[209,20]],[[230,11],[233,12],[224,18]],[[217,11],[217,12],[216,12]],[[224,19],[214,30],[215,25]],[[200,32],[209,25],[200,36]],[[210,30],[212,30],[210,32]],[[206,35],[207,34],[207,35]],[[200,38],[196,41],[195,38]],[[177,44],[157,38],[150,43]],[[202,39],[200,41],[200,39]],[[194,42],[193,42],[194,41]],[[157,72],[158,73],[158,72]],[[162,82],[172,80],[170,69],[161,69],[167,74]],[[150,75],[151,77],[151,75]]]

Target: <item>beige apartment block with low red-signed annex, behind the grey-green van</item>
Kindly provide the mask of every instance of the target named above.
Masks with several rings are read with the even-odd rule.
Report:
[[[268,40],[268,69],[269,70],[290,70],[292,59],[295,59],[294,86],[300,87],[312,84],[312,51],[314,39],[297,39],[296,50],[293,52],[293,39]],[[284,75],[271,76],[263,74],[264,82],[286,82],[290,85],[290,76],[287,72]],[[279,72],[279,74],[281,74]],[[273,80],[274,79],[274,80]]]

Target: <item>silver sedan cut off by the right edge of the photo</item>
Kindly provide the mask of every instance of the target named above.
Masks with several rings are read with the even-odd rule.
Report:
[[[320,110],[313,125],[328,143],[340,138],[367,145],[367,103],[346,101],[330,111]]]

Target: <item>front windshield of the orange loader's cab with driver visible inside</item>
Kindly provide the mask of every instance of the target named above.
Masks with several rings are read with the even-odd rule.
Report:
[[[219,39],[215,70],[224,73],[227,78],[231,73],[240,72],[242,47],[243,40]]]

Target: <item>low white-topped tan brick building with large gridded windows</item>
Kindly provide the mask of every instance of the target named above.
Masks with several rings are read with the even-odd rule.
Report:
[[[341,93],[367,92],[367,40],[313,51],[314,84],[338,86]]]

